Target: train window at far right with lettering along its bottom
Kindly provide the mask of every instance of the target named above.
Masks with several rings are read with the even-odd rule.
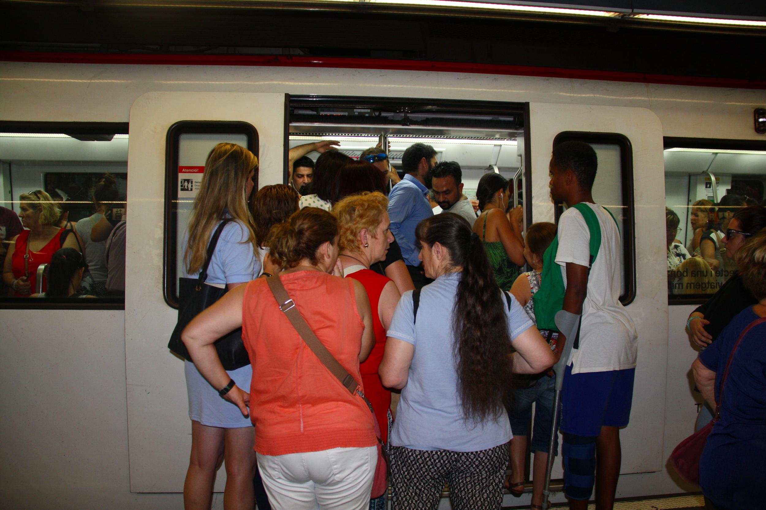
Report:
[[[668,300],[699,302],[737,270],[725,232],[766,198],[766,144],[666,138],[664,158]]]

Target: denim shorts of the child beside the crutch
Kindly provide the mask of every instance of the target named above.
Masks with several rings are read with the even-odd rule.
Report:
[[[535,421],[532,425],[532,451],[548,453],[548,441],[551,440],[553,421],[553,398],[555,395],[555,377],[543,375],[532,388],[513,391],[514,402],[508,409],[511,432],[514,436],[529,434],[529,420],[532,418],[532,404],[535,404]],[[558,451],[558,425],[554,455]]]

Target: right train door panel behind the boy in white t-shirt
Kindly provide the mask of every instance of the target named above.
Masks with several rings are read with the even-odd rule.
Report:
[[[662,471],[668,312],[660,120],[647,109],[531,103],[529,126],[533,222],[558,217],[548,190],[553,145],[579,139],[596,149],[594,200],[611,210],[620,225],[625,268],[621,300],[638,330],[630,425],[620,432],[620,473]],[[553,478],[561,477],[557,462]],[[627,483],[621,478],[618,491]]]

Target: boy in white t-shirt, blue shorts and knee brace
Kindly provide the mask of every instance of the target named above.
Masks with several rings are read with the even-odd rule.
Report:
[[[581,314],[579,342],[561,391],[565,494],[569,508],[588,508],[597,479],[596,508],[611,510],[620,476],[619,427],[627,425],[633,400],[637,335],[620,304],[620,232],[591,194],[596,169],[596,152],[581,141],[556,145],[549,167],[552,200],[569,206],[558,220],[555,255],[566,287],[564,310]],[[590,230],[572,207],[581,202],[601,227],[601,248],[590,271]]]

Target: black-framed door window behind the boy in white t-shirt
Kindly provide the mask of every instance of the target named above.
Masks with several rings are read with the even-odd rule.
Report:
[[[623,267],[620,302],[630,304],[636,297],[636,251],[633,204],[633,148],[624,135],[616,133],[563,132],[553,145],[579,140],[591,145],[598,156],[598,173],[593,185],[593,198],[617,219],[620,229],[620,263]],[[556,206],[556,220],[564,211]]]

